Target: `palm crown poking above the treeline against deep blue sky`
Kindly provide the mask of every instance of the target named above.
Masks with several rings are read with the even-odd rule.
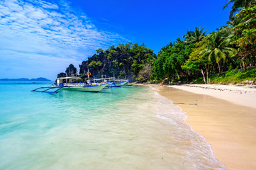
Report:
[[[203,40],[206,34],[206,30],[203,32],[204,28],[196,27],[195,31],[188,30],[187,34],[183,36],[183,38],[187,39],[186,42],[199,42]]]

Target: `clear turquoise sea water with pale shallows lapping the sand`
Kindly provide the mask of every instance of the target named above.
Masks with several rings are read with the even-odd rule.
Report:
[[[30,92],[49,85],[0,82],[0,169],[226,169],[152,87]]]

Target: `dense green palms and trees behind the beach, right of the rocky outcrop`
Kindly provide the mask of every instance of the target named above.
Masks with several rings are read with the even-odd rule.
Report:
[[[160,50],[152,69],[155,82],[255,83],[256,3],[229,0],[224,8],[230,3],[227,26],[208,35],[204,28],[188,30],[184,40]]]

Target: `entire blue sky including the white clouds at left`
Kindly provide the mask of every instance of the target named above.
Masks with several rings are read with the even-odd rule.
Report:
[[[157,54],[187,30],[226,26],[226,0],[1,0],[0,79],[55,80],[101,47],[145,43]]]

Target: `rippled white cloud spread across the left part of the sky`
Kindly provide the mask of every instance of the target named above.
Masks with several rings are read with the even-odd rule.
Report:
[[[0,62],[8,65],[8,68],[0,69],[2,73],[4,69],[15,70],[11,68],[12,64],[23,67],[25,63],[26,69],[31,68],[30,72],[37,65],[38,70],[49,77],[52,69],[51,72],[45,69],[48,65],[54,67],[52,63],[56,64],[54,72],[63,72],[67,61],[78,64],[97,48],[120,42],[127,40],[116,33],[99,30],[68,1],[0,1]],[[10,77],[10,74],[2,74],[0,78],[4,77]]]

